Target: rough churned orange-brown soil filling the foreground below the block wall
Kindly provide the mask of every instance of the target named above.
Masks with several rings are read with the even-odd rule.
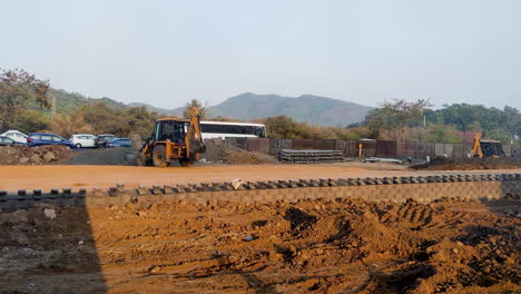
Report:
[[[4,212],[0,293],[519,293],[520,213],[519,199]]]

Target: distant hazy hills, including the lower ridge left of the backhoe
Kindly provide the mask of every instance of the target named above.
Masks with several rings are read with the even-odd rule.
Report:
[[[70,112],[94,102],[105,102],[111,107],[146,107],[161,115],[180,116],[183,107],[165,109],[148,104],[121,104],[110,98],[88,98],[79,94],[63,90],[52,90],[57,97],[57,111]],[[229,117],[233,119],[252,120],[273,116],[287,116],[301,122],[321,126],[345,127],[362,121],[372,107],[326,97],[303,95],[284,97],[279,95],[256,95],[245,92],[226,99],[224,102],[208,107],[209,117]]]

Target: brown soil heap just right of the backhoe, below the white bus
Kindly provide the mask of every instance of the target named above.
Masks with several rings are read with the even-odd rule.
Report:
[[[247,151],[233,146],[227,146],[222,140],[205,140],[206,153],[200,155],[203,161],[230,165],[258,165],[276,164],[278,160],[264,153]]]

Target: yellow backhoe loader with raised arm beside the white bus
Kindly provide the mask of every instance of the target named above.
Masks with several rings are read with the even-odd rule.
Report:
[[[151,138],[138,155],[138,165],[167,167],[179,160],[181,166],[190,166],[206,151],[200,134],[199,109],[191,107],[189,119],[163,118],[157,120]]]

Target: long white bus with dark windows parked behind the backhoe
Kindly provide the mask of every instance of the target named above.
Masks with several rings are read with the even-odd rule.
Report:
[[[203,139],[226,137],[266,138],[266,126],[249,122],[200,121]]]

